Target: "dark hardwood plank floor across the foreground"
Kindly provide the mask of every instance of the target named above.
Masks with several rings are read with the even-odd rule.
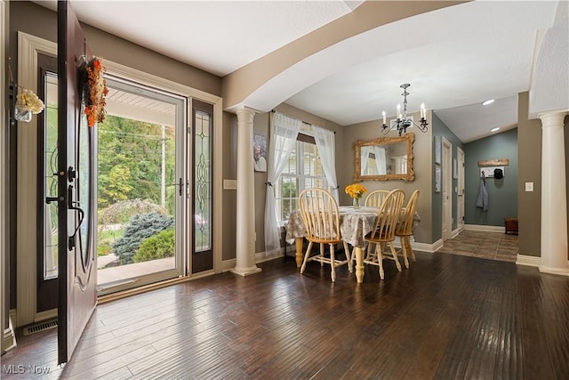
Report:
[[[97,307],[73,359],[56,331],[19,336],[4,379],[567,379],[569,278],[477,257],[416,252],[357,284],[293,259]],[[6,366],[23,366],[8,374]],[[49,374],[28,371],[49,368]]]

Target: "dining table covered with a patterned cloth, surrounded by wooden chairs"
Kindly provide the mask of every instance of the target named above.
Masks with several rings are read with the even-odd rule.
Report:
[[[355,208],[354,206],[338,207],[341,237],[353,247],[352,255],[356,256],[356,279],[358,283],[364,282],[365,235],[373,230],[378,212],[379,207],[372,206],[361,206],[359,208]],[[421,218],[419,214],[415,212],[413,217],[413,229],[420,221]],[[304,255],[303,247],[306,234],[307,230],[302,221],[301,210],[293,210],[286,224],[285,239],[289,244],[293,242],[295,244],[295,260],[296,266],[299,268],[301,267]],[[351,266],[351,263],[349,263],[349,265]]]

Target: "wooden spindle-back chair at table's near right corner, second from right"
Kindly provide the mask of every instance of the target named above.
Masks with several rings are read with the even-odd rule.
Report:
[[[393,260],[397,266],[397,271],[401,271],[401,264],[397,259],[397,252],[393,247],[395,240],[395,231],[397,222],[401,216],[401,208],[405,200],[405,192],[403,190],[391,190],[389,194],[383,199],[378,214],[375,218],[373,230],[365,236],[365,241],[368,243],[367,255],[365,256],[364,263],[377,265],[380,270],[380,278],[385,278],[383,271],[383,259]],[[375,246],[375,249],[373,249]],[[384,255],[386,247],[389,247],[391,256]]]

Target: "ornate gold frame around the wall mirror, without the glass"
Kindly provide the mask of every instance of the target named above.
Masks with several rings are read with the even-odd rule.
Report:
[[[415,174],[413,173],[413,141],[415,140],[415,133],[405,133],[403,136],[398,137],[379,137],[371,141],[355,141],[354,149],[356,150],[356,160],[354,167],[354,181],[389,181],[389,180],[402,180],[413,181]],[[397,142],[407,142],[407,174],[381,174],[381,175],[362,175],[362,147],[370,145],[386,145],[395,144]]]

